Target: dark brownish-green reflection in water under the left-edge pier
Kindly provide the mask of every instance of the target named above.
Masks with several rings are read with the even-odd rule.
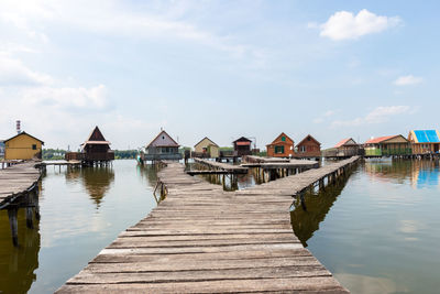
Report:
[[[38,268],[40,224],[26,227],[25,213],[19,209],[19,248],[11,242],[8,211],[0,210],[0,293],[26,293],[36,280]]]

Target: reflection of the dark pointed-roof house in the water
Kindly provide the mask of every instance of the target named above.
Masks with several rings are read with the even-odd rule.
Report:
[[[67,183],[82,182],[97,209],[114,182],[114,172],[110,166],[69,168],[65,175]]]

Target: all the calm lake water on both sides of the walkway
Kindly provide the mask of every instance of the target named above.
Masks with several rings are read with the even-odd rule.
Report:
[[[47,167],[41,221],[13,248],[0,211],[0,293],[51,293],[157,204],[156,171],[134,161],[111,168]],[[254,185],[240,176],[239,188]],[[293,229],[352,293],[439,293],[438,161],[362,163],[344,181],[305,196]],[[286,208],[287,209],[287,208]]]

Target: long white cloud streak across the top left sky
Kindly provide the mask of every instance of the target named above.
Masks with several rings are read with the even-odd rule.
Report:
[[[161,6],[153,12],[130,10],[123,1],[6,1],[0,21],[12,24],[31,39],[43,43],[50,37],[45,30],[52,24],[66,24],[69,29],[129,37],[180,39],[229,52],[234,56],[245,54],[257,58],[250,45],[238,44],[230,35],[217,35],[185,20],[190,7],[177,3]],[[177,9],[175,7],[178,7]],[[176,11],[178,11],[176,13]],[[80,17],[78,17],[80,15]]]

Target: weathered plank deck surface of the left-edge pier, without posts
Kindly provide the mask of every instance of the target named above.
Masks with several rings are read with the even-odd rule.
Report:
[[[8,207],[23,194],[29,193],[40,179],[35,162],[25,162],[0,170],[0,209]]]

